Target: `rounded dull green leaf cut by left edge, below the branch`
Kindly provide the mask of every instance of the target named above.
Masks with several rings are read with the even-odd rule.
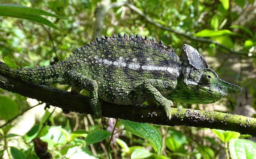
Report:
[[[0,118],[9,120],[19,113],[17,103],[9,97],[0,96]]]

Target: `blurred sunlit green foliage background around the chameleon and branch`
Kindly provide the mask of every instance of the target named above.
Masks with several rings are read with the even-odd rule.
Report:
[[[1,4],[42,9],[66,19],[49,15],[40,16],[42,19],[35,16],[37,22],[31,21],[31,17],[26,18],[29,20],[14,18],[25,16],[25,13],[7,17],[5,14],[11,10],[3,12],[0,7],[0,57],[9,64],[23,67],[48,66],[65,60],[76,48],[95,41],[93,37],[98,34],[131,33],[147,35],[150,39],[155,37],[165,45],[172,45],[178,55],[183,44],[190,44],[206,58],[219,77],[240,85],[243,91],[239,97],[230,95],[214,104],[176,105],[256,117],[255,0],[128,1],[155,22],[194,39],[161,29],[125,5],[104,10],[119,2],[123,1],[1,0]],[[105,19],[102,30],[98,31],[96,15],[102,11],[105,11]],[[48,25],[43,25],[46,22]],[[217,41],[225,48],[196,40],[202,37]],[[70,90],[67,85],[52,86]],[[86,91],[82,93],[88,94]],[[36,107],[23,113],[33,106]],[[253,158],[253,153],[256,155],[252,150],[253,147],[256,149],[255,142],[238,139],[249,136],[235,132],[136,125],[120,120],[115,124],[115,119],[97,119],[74,112],[64,114],[58,108],[44,109],[46,107],[49,106],[0,89],[0,125],[18,116],[0,129],[0,157],[3,154],[4,158],[39,158],[36,152],[40,150],[45,158],[211,159],[241,158],[242,155]],[[155,132],[155,135],[145,135],[147,131],[142,128]],[[115,134],[111,135],[112,132]],[[248,139],[255,141],[255,138]],[[242,144],[249,145],[245,150],[251,148],[251,153],[239,155],[236,148]]]

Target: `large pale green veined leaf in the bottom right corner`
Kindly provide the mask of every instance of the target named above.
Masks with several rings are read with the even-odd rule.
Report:
[[[255,159],[256,143],[247,139],[232,139],[229,151],[232,159]]]

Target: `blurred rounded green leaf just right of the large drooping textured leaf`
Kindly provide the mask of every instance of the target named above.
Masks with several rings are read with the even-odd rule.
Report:
[[[171,134],[171,137],[166,138],[166,146],[173,152],[179,152],[178,150],[187,142],[186,136],[172,130],[169,130],[168,133]]]

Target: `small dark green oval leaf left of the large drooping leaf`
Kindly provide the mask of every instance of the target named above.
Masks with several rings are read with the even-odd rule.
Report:
[[[111,133],[106,130],[93,130],[90,131],[87,137],[85,138],[86,145],[100,142],[101,140],[106,139],[110,136]]]

